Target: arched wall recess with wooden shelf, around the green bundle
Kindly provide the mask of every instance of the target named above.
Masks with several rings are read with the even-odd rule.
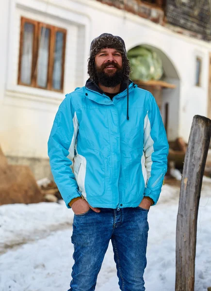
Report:
[[[175,141],[179,137],[179,73],[170,58],[162,52],[161,49],[147,44],[142,44],[137,47],[142,47],[155,52],[162,62],[163,73],[159,80],[132,81],[135,81],[139,87],[146,89],[153,94],[161,110],[168,140]],[[130,53],[131,49],[128,53]]]

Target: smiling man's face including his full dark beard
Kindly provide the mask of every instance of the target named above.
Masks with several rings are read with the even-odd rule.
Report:
[[[116,49],[101,49],[95,57],[95,68],[100,84],[115,87],[123,80],[122,55]]]

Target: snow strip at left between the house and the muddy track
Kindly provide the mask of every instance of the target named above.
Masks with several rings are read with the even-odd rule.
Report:
[[[72,225],[73,212],[58,203],[9,204],[0,206],[0,253],[48,236],[51,231]]]

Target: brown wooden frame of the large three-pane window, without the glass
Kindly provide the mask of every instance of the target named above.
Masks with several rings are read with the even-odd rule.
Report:
[[[34,35],[33,35],[33,48],[32,48],[32,71],[31,71],[31,84],[26,84],[21,82],[21,59],[23,52],[23,35],[24,35],[24,24],[31,23],[34,25]],[[47,86],[41,87],[37,84],[37,61],[38,61],[38,51],[41,40],[41,29],[42,27],[49,29],[49,61],[48,61],[48,76],[47,76]],[[61,89],[54,89],[52,87],[52,77],[53,77],[53,63],[54,63],[54,49],[56,41],[56,32],[63,32],[63,52],[62,52],[62,76],[61,76]],[[65,47],[66,47],[66,30],[60,27],[49,25],[43,22],[32,20],[29,18],[21,17],[21,26],[20,26],[20,48],[19,48],[19,61],[18,61],[18,77],[17,84],[39,88],[49,91],[61,92],[64,90],[64,76],[65,76]]]

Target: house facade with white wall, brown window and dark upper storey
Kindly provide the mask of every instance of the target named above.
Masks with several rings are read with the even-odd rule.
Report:
[[[29,164],[36,178],[50,175],[47,142],[55,113],[66,93],[84,85],[91,40],[103,32],[120,35],[127,50],[142,45],[157,52],[162,80],[176,85],[162,90],[168,139],[187,142],[193,116],[211,117],[210,27],[178,23],[176,10],[188,5],[188,0],[0,0],[0,146],[9,162]]]

